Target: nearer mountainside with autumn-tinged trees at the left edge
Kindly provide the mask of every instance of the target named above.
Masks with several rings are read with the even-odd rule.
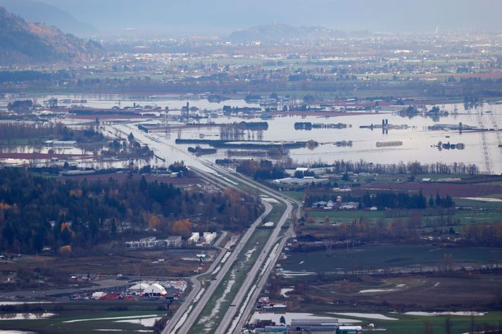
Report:
[[[101,53],[94,41],[65,34],[56,27],[27,23],[0,7],[0,64],[34,64],[83,60]]]

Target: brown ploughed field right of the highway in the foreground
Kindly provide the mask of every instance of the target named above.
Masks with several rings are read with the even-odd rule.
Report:
[[[288,293],[291,311],[303,309],[306,300],[339,307],[358,304],[363,309],[382,305],[389,309],[477,309],[502,301],[502,274],[452,274],[450,276],[359,276],[340,281],[308,282],[306,295]],[[361,290],[394,290],[360,293]],[[322,308],[322,307],[321,307]]]

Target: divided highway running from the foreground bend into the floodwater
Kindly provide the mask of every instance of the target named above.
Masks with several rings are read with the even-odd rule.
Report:
[[[261,254],[258,255],[258,259],[251,267],[249,275],[246,276],[244,283],[239,289],[239,292],[234,297],[232,305],[235,306],[227,309],[225,316],[223,317],[220,325],[218,326],[218,329],[215,332],[227,333],[226,330],[227,328],[229,328],[232,319],[234,319],[234,316],[236,316],[237,310],[241,309],[241,312],[239,312],[237,319],[234,321],[234,326],[232,326],[232,328],[235,327],[235,330],[237,330],[238,333],[238,330],[242,326],[241,323],[244,323],[244,321],[246,321],[251,312],[254,300],[256,300],[256,297],[254,296],[257,295],[263,288],[268,274],[270,274],[273,266],[275,266],[275,262],[279,258],[280,252],[282,251],[284,243],[287,240],[287,238],[279,237],[282,226],[290,217],[291,212],[294,209],[294,204],[299,205],[299,203],[295,203],[288,198],[285,198],[281,193],[272,191],[270,188],[264,186],[263,184],[258,184],[258,182],[256,181],[247,179],[243,176],[240,176],[239,174],[231,172],[230,170],[222,168],[211,162],[205,162],[203,160],[200,160],[199,158],[195,158],[193,155],[180,150],[180,148],[171,146],[169,143],[161,141],[161,139],[158,139],[152,134],[145,134],[142,131],[139,131],[137,127],[131,126],[129,124],[114,125],[111,127],[111,129],[108,129],[108,132],[115,135],[120,134],[122,136],[127,136],[130,132],[132,132],[135,139],[142,143],[148,144],[150,148],[156,150],[156,155],[164,158],[167,161],[172,160],[172,155],[174,153],[174,150],[176,150],[177,155],[182,157],[182,160],[184,160],[185,164],[196,171],[202,179],[205,179],[206,181],[209,181],[212,184],[217,184],[219,186],[230,186],[233,188],[238,188],[237,182],[232,181],[232,179],[234,179],[286,205],[286,210],[284,210],[280,221],[277,222],[275,229],[272,231],[272,235],[267,240],[267,243],[265,243],[263,250],[261,250]],[[177,160],[180,160],[180,158],[178,158]],[[265,212],[263,212],[263,214],[261,214],[261,216],[253,222],[246,233],[244,233],[244,236],[242,236],[237,245],[235,245],[234,250],[231,252],[225,263],[220,267],[220,270],[218,271],[216,276],[211,281],[209,281],[209,285],[205,287],[202,286],[199,278],[200,276],[203,276],[203,274],[190,278],[192,281],[192,291],[184,300],[184,303],[182,303],[177,309],[175,314],[172,316],[172,319],[168,321],[167,326],[162,332],[163,334],[185,334],[189,332],[192,326],[194,326],[196,319],[201,314],[201,311],[206,306],[208,300],[211,298],[211,295],[213,295],[215,289],[218,287],[218,285],[220,285],[222,279],[226,276],[227,272],[236,261],[239,253],[244,248],[251,235],[254,233],[256,227],[261,224],[263,219],[265,219],[265,217],[272,210],[272,205],[270,205],[270,203],[266,202],[265,200],[262,200],[262,203],[263,205],[265,205]],[[293,235],[291,231],[292,229],[289,229],[287,236]],[[279,240],[281,240],[281,243],[277,244]],[[272,249],[274,250],[274,252],[271,255],[270,252],[272,251]],[[206,273],[213,272],[216,266],[220,264],[223,253],[224,252],[220,253],[218,258],[215,259],[215,262],[213,262],[211,268],[206,271]],[[260,273],[260,276],[258,276],[258,283],[255,283],[258,273]],[[244,300],[246,296],[248,298]]]

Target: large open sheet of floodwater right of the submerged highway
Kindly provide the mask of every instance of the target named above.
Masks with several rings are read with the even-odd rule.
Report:
[[[483,134],[481,132],[468,132],[453,130],[431,131],[427,127],[437,123],[441,124],[463,124],[472,127],[479,127],[479,120],[482,120],[482,127],[494,128],[494,124],[502,124],[502,105],[485,105],[484,110],[463,110],[462,106],[445,105],[444,109],[453,111],[458,108],[457,115],[441,117],[439,121],[434,121],[430,117],[404,118],[392,113],[368,113],[368,115],[347,115],[339,117],[317,117],[317,116],[283,116],[274,117],[268,122],[268,129],[263,131],[244,131],[244,138],[239,140],[263,140],[263,141],[318,141],[320,145],[316,148],[295,148],[289,150],[289,156],[300,164],[324,162],[332,163],[334,160],[366,160],[373,163],[394,163],[418,161],[422,163],[432,162],[463,162],[465,165],[475,164],[481,171],[487,171],[488,166],[492,173],[502,172],[502,133],[495,131],[484,134],[486,143],[487,159],[485,159],[485,146]],[[429,108],[432,108],[429,106]],[[491,113],[484,111],[490,110]],[[478,117],[479,115],[479,117]],[[382,124],[382,120],[388,120],[389,124],[408,125],[408,129],[391,129],[384,133],[382,129],[360,129],[361,125]],[[232,117],[218,117],[212,119],[216,123],[241,122],[242,119]],[[201,120],[201,123],[206,120]],[[246,122],[265,122],[258,117]],[[312,123],[344,123],[351,127],[346,129],[312,129],[295,130],[295,122]],[[175,145],[175,139],[224,139],[218,128],[191,128],[172,130],[170,132],[156,133],[164,141]],[[336,141],[352,141],[351,147],[338,147],[333,145]],[[402,141],[402,146],[377,148],[377,141]],[[463,143],[464,150],[439,150],[437,144],[442,143]],[[194,144],[178,145],[187,150]],[[207,145],[201,145],[208,148]],[[227,149],[219,149],[213,155],[203,155],[203,159],[214,160],[218,158],[228,158]],[[487,165],[488,163],[488,165]]]

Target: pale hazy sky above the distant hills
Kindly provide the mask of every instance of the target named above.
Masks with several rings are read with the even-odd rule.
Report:
[[[23,0],[19,0],[23,1]],[[340,30],[501,30],[502,0],[39,0],[103,32],[226,34],[268,23]]]

